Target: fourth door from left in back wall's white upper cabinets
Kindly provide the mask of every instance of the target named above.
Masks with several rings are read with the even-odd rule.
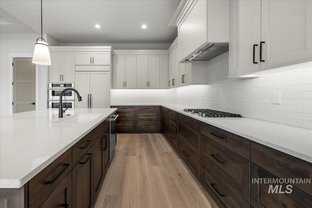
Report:
[[[148,56],[148,81],[149,88],[159,89],[159,70],[160,70],[160,60],[159,55],[149,55]]]

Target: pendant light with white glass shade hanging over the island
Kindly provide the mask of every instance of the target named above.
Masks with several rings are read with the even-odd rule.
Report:
[[[41,39],[41,40],[39,40]],[[42,38],[42,0],[41,0],[41,38],[37,38],[32,63],[39,65],[51,65],[49,46]]]

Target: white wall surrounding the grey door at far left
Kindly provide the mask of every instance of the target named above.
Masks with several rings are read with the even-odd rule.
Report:
[[[0,114],[9,114],[12,109],[10,88],[12,87],[12,71],[10,71],[9,54],[33,54],[35,42],[39,34],[1,34],[0,36]],[[43,38],[46,38],[44,36]],[[39,109],[47,107],[47,77],[46,66],[39,67]]]

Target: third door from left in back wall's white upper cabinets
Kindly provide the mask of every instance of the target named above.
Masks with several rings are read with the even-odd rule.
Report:
[[[148,88],[148,56],[137,55],[137,89]]]

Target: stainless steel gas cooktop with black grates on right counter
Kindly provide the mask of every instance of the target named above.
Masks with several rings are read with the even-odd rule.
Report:
[[[242,117],[240,114],[215,111],[211,109],[183,109],[186,113],[196,114],[201,117]]]

